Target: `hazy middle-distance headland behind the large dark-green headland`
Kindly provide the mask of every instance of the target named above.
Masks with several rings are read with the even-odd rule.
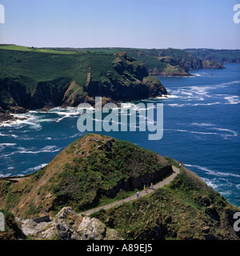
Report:
[[[47,50],[47,49],[44,49]],[[48,50],[57,50],[50,48]],[[168,49],[134,49],[134,48],[86,48],[71,49],[59,48],[58,50],[114,53],[125,51],[130,56],[143,62],[148,72],[154,76],[190,76],[192,69],[223,69],[222,62],[216,60],[203,60],[186,50]]]

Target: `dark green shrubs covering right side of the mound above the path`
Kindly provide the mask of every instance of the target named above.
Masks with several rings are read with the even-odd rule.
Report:
[[[48,190],[58,202],[55,211],[62,206],[72,206],[78,212],[103,206],[142,190],[144,184],[135,182],[140,177],[158,172],[159,179],[166,175],[161,174],[166,164],[160,164],[158,154],[150,150],[117,139],[111,150],[98,150],[98,145],[96,142],[90,146],[88,158],[73,157],[73,162],[68,162],[62,172],[50,180]],[[78,141],[66,152],[73,156],[79,152]]]

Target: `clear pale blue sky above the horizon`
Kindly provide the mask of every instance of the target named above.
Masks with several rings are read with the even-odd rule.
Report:
[[[0,43],[240,49],[240,0],[0,0]]]

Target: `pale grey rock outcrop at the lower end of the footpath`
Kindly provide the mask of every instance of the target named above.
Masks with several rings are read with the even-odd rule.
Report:
[[[16,218],[26,237],[39,240],[122,240],[118,231],[107,228],[97,218],[82,217],[64,207],[50,222]]]

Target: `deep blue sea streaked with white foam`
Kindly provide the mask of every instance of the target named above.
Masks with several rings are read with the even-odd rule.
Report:
[[[190,78],[159,78],[170,98],[163,103],[163,138],[149,132],[101,132],[182,161],[227,200],[240,206],[240,64],[226,70],[192,70]],[[138,103],[138,102],[132,102]],[[0,177],[29,174],[46,166],[83,135],[78,111],[54,108],[18,114],[26,120],[0,126]]]

